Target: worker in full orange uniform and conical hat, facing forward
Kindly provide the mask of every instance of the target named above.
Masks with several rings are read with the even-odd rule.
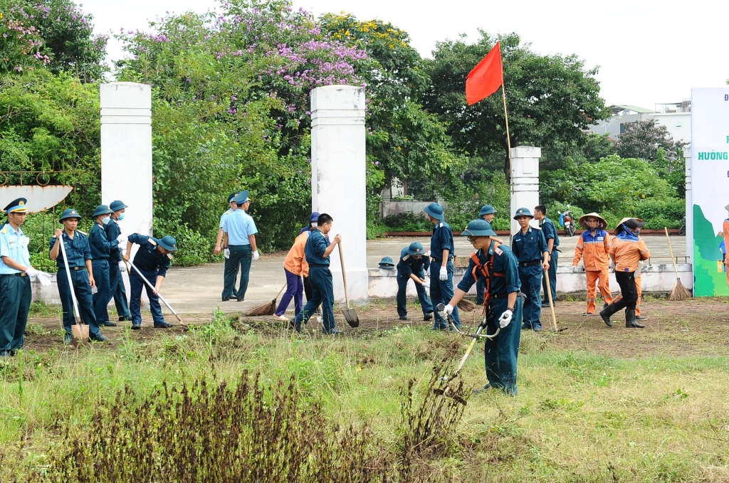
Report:
[[[572,259],[572,271],[576,271],[580,259],[584,259],[585,275],[588,279],[588,310],[582,315],[595,315],[597,288],[605,301],[605,307],[612,304],[610,293],[609,253],[612,243],[605,231],[607,221],[597,213],[588,213],[580,218],[585,231],[577,240]],[[599,281],[598,281],[599,280]]]

